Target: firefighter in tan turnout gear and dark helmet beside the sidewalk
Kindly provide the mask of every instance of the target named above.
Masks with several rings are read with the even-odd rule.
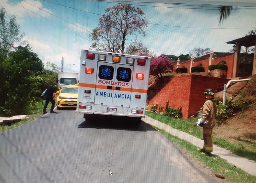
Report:
[[[215,117],[217,114],[217,105],[213,101],[214,92],[209,88],[204,91],[206,101],[204,102],[203,114],[199,123],[200,127],[203,127],[203,139],[204,146],[200,151],[206,155],[211,155],[213,152],[213,141],[211,139],[213,128],[215,126]]]

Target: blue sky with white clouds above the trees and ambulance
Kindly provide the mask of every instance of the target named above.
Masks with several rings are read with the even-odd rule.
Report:
[[[188,2],[190,4],[184,4]],[[188,54],[194,47],[210,47],[215,52],[231,50],[233,45],[225,42],[243,37],[256,27],[256,3],[253,0],[245,2],[144,0],[129,3],[140,7],[148,21],[147,36],[138,36],[137,39],[155,55],[164,53],[178,56]],[[107,7],[120,3],[123,2],[0,0],[0,7],[6,8],[7,19],[10,15],[17,16],[20,31],[25,33],[24,40],[31,44],[32,51],[44,63],[53,62],[60,68],[63,56],[63,72],[78,73],[80,51],[90,48],[92,43],[89,33],[96,28],[98,19]],[[216,6],[219,4],[239,5],[242,10],[233,11],[231,17],[219,25]],[[71,63],[75,65],[69,65]]]

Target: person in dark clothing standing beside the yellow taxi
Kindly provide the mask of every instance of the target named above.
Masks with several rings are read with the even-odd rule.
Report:
[[[53,82],[52,85],[49,85],[46,90],[46,96],[45,96],[45,105],[43,106],[43,114],[46,114],[46,108],[49,104],[49,102],[52,103],[52,107],[50,109],[50,113],[56,113],[53,111],[55,106],[55,93],[56,93],[56,87],[57,83]]]

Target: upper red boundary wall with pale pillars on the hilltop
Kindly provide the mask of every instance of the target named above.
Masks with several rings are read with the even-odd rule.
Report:
[[[229,55],[229,56],[224,56],[224,57],[221,57],[221,58],[217,58],[217,59],[211,59],[211,64],[215,65],[215,64],[220,63],[221,61],[225,61],[227,63],[227,66],[228,66],[227,78],[232,78],[232,76],[233,76],[233,65],[234,65],[234,54]],[[204,71],[208,72],[209,58],[201,60],[201,61],[194,61],[192,63],[192,67],[199,66],[200,64],[203,65]],[[181,68],[183,66],[185,66],[187,68],[187,72],[189,73],[190,72],[190,61],[185,62],[185,63],[180,63],[178,68]]]

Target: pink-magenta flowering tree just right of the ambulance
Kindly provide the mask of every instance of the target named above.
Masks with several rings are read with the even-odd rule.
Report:
[[[155,81],[158,83],[158,81],[162,80],[163,74],[166,71],[173,71],[173,65],[174,61],[171,61],[171,59],[167,58],[165,54],[161,54],[158,57],[152,57],[149,74],[153,76],[155,78]]]

